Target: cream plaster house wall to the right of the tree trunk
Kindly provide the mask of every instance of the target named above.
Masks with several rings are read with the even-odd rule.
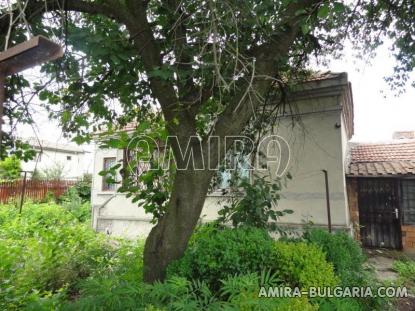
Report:
[[[312,222],[318,226],[327,226],[327,204],[325,181],[322,170],[327,170],[330,191],[331,222],[334,228],[348,228],[349,214],[346,201],[346,181],[344,174],[344,148],[342,140],[342,114],[338,110],[337,97],[319,98],[317,100],[297,103],[301,111],[312,112],[301,116],[301,123],[293,124],[291,117],[281,119],[277,134],[290,146],[290,164],[288,171],[292,180],[281,191],[278,209],[289,209],[294,213],[279,220],[281,225],[289,227],[302,226]],[[310,107],[312,106],[313,107]],[[310,109],[311,108],[311,109]],[[318,112],[329,110],[329,112]],[[340,125],[340,128],[336,126]],[[270,166],[276,171],[275,165]],[[222,198],[223,199],[223,198]],[[205,210],[217,209],[219,198],[208,197]],[[207,213],[215,218],[212,213]]]

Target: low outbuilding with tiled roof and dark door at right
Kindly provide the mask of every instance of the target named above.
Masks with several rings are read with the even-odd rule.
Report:
[[[415,250],[415,136],[393,137],[388,143],[352,146],[351,218],[364,246]]]

